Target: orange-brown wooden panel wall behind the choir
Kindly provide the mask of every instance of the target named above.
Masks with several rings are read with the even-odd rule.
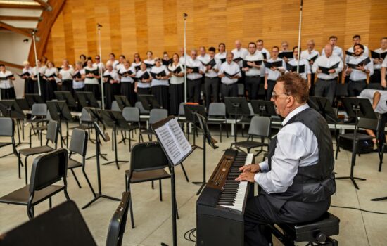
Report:
[[[178,52],[184,44],[183,13],[186,21],[187,50],[206,48],[224,42],[227,50],[239,39],[243,46],[264,39],[266,48],[288,41],[298,42],[300,1],[272,0],[68,0],[54,23],[46,46],[46,56],[56,63],[71,62],[81,53],[98,53],[96,23],[101,29],[102,56],[124,54],[132,60],[146,51],[162,56],[163,51]],[[76,7],[75,7],[76,6]],[[331,35],[338,46],[348,48],[352,36],[360,34],[362,43],[379,48],[387,36],[387,4],[384,0],[308,0],[303,6],[302,47],[314,39],[321,51]]]

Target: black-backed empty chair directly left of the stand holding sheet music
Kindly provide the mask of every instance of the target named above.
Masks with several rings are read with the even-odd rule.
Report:
[[[161,188],[162,179],[170,179],[170,174],[165,171],[169,161],[158,142],[137,143],[133,145],[130,156],[130,169],[125,171],[126,191],[130,190],[131,183],[159,181],[160,201],[163,200]],[[132,195],[129,195],[130,218],[134,228]],[[176,206],[176,202],[175,202]]]

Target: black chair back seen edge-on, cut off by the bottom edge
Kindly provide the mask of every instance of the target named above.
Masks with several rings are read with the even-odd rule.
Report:
[[[123,192],[120,205],[110,219],[106,246],[121,246],[127,222],[127,212],[129,210],[130,192]]]

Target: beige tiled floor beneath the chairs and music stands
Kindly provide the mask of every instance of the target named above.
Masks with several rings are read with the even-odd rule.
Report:
[[[239,137],[241,139],[241,137]],[[3,141],[1,138],[0,141]],[[27,138],[26,138],[27,140]],[[222,156],[222,150],[229,147],[233,138],[223,138],[220,148],[210,150],[207,154],[207,174],[212,171]],[[201,141],[200,141],[201,142]],[[34,139],[34,145],[38,145]],[[108,153],[108,159],[113,160],[114,154],[111,151],[111,143],[106,143],[102,147],[103,153]],[[27,145],[20,145],[18,148],[27,148]],[[1,148],[0,155],[11,151],[10,147]],[[129,160],[127,145],[118,145],[120,159]],[[89,143],[88,155],[94,155],[95,145]],[[177,221],[177,240],[179,245],[194,245],[192,242],[184,240],[184,232],[196,226],[196,199],[195,194],[198,186],[191,181],[201,181],[202,179],[202,151],[195,150],[194,153],[184,162],[184,167],[189,175],[190,183],[184,179],[182,169],[176,168],[177,173],[177,205],[179,207],[180,219]],[[261,157],[259,157],[261,159]],[[33,157],[28,159],[31,167]],[[102,160],[103,162],[103,160]],[[18,179],[18,168],[16,157],[11,155],[0,159],[0,195],[24,186],[24,176]],[[357,157],[355,174],[367,179],[359,181],[360,190],[356,190],[348,180],[337,180],[337,192],[332,197],[332,205],[345,207],[357,207],[377,212],[387,213],[387,200],[383,202],[371,202],[371,198],[387,196],[387,167],[383,167],[381,172],[377,171],[379,160],[376,153]],[[120,198],[125,190],[125,169],[129,169],[129,163],[120,164],[121,169],[116,169],[114,164],[101,167],[103,193]],[[342,150],[336,161],[335,171],[337,176],[346,176],[350,171],[350,153]],[[82,176],[81,170],[75,170],[82,188],[78,188],[71,173],[68,174],[68,193],[72,200],[75,200],[78,207],[82,207],[92,195],[87,187],[87,183]],[[29,171],[30,174],[30,171]],[[96,185],[96,160],[87,161],[87,174],[91,179],[94,188]],[[59,194],[53,198],[53,205],[63,202],[64,195]],[[158,183],[155,189],[151,189],[151,183],[139,183],[132,186],[132,199],[134,206],[134,220],[136,228],[132,229],[128,224],[123,239],[123,245],[160,245],[165,242],[172,245],[171,236],[171,206],[170,206],[170,181],[163,181],[163,202],[159,201]],[[118,202],[100,199],[91,207],[82,210],[82,215],[87,221],[92,235],[98,245],[104,245],[108,224]],[[35,212],[40,214],[49,207],[48,202],[37,205]],[[340,245],[386,245],[387,242],[387,215],[371,214],[360,212],[354,209],[342,209],[331,207],[329,210],[341,219],[340,235],[335,238]],[[4,233],[11,228],[27,221],[26,209],[24,206],[0,204],[0,233]],[[275,245],[279,245],[278,242]]]

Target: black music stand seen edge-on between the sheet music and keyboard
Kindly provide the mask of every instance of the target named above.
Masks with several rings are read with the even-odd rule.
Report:
[[[219,146],[216,145],[217,141],[211,136],[210,129],[208,129],[208,125],[207,125],[207,119],[205,119],[203,115],[198,113],[194,113],[194,117],[198,119],[200,129],[203,134],[203,181],[192,182],[195,184],[201,184],[201,188],[199,188],[198,192],[196,193],[196,195],[199,195],[201,193],[201,190],[203,190],[205,184],[207,183],[207,179],[205,178],[205,155],[206,155],[205,142],[207,142],[208,145],[210,145],[211,148],[213,148],[214,150],[219,148]]]

